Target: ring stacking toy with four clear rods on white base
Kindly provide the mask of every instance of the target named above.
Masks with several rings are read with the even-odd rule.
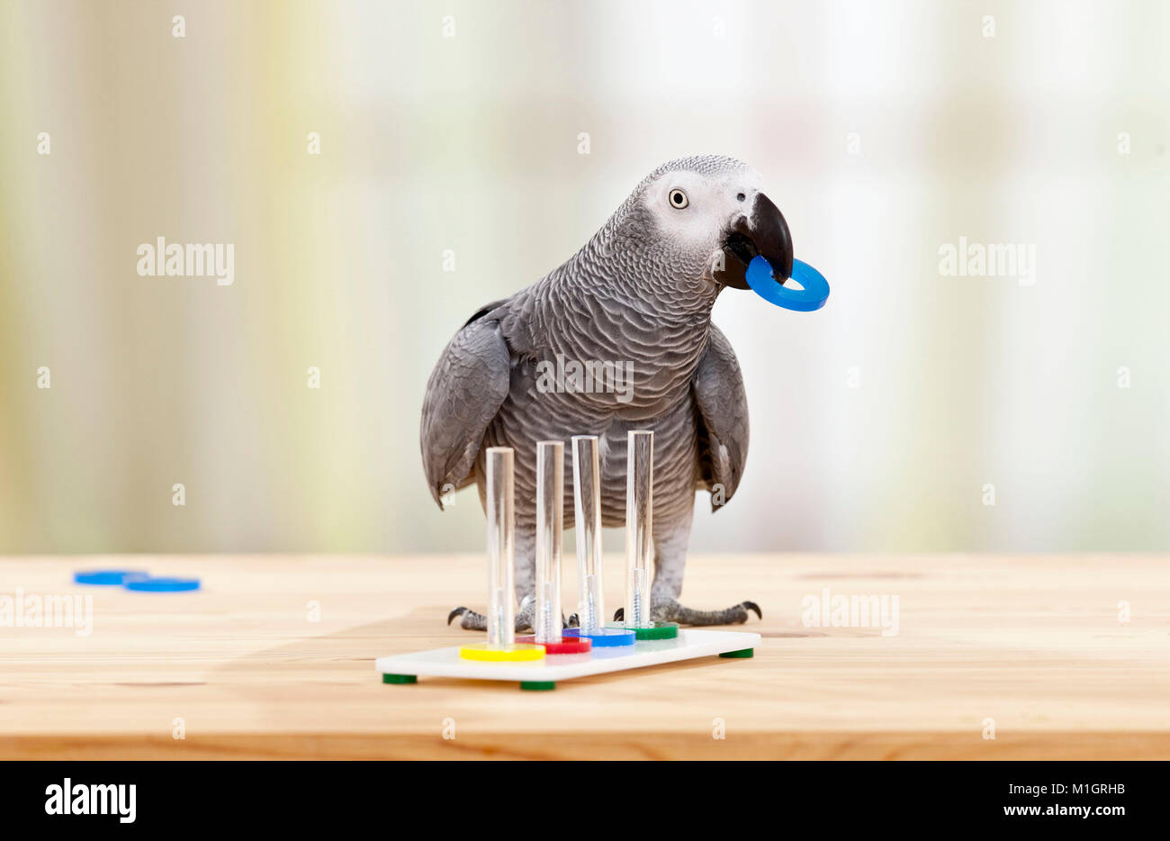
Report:
[[[420,675],[516,681],[530,691],[611,671],[640,669],[711,655],[749,657],[758,634],[680,630],[651,618],[653,572],[654,432],[629,430],[626,439],[626,606],[624,621],[606,624],[601,588],[601,497],[598,438],[573,436],[573,506],[577,525],[578,628],[560,613],[564,529],[564,443],[536,445],[536,593],[531,636],[515,635],[515,464],[511,447],[487,451],[487,642],[380,657],[383,683],[413,684]],[[150,579],[147,579],[150,580]],[[530,596],[521,602],[528,613]],[[453,614],[454,615],[454,614]]]

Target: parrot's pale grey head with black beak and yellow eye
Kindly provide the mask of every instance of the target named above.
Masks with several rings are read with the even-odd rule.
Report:
[[[752,167],[720,156],[659,166],[626,203],[619,241],[668,268],[674,289],[714,296],[748,289],[748,264],[763,255],[780,282],[792,274],[792,235]]]

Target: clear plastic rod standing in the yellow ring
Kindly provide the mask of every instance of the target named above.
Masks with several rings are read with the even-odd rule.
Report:
[[[488,645],[516,642],[514,611],[515,492],[512,449],[488,447]]]

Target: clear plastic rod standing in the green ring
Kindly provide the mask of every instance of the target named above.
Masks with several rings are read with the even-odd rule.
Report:
[[[626,627],[651,627],[654,432],[626,436]]]

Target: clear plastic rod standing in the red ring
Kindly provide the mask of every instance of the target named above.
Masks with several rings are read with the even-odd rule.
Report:
[[[560,642],[560,542],[565,527],[565,444],[536,445],[536,642]]]

